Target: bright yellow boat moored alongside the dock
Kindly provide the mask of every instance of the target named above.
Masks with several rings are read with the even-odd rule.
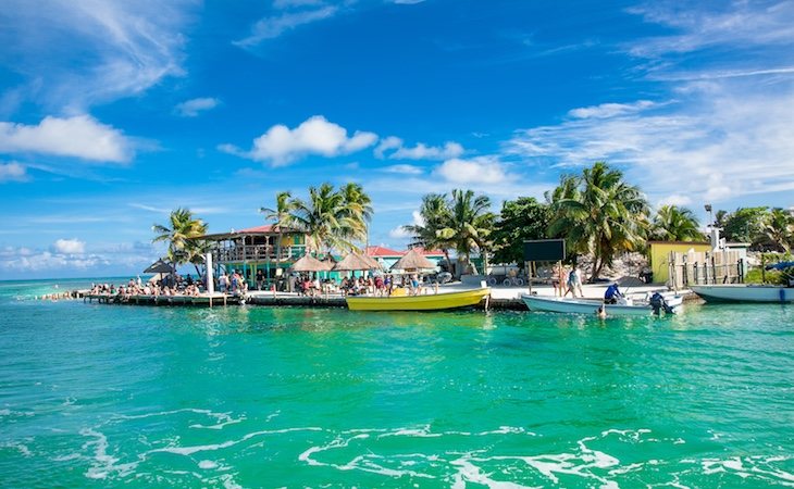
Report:
[[[444,311],[476,305],[489,294],[491,289],[485,287],[426,296],[348,297],[347,308],[350,311]]]

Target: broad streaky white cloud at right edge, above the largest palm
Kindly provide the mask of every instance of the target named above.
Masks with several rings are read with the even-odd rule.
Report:
[[[744,85],[685,89],[688,99],[665,113],[534,127],[519,131],[506,151],[528,162],[570,166],[606,160],[659,201],[688,196],[718,202],[794,190],[794,89],[785,84],[760,93]]]

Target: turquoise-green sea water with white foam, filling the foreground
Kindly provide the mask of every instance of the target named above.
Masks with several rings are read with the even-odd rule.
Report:
[[[794,486],[791,306],[27,299],[51,287],[0,283],[2,487]]]

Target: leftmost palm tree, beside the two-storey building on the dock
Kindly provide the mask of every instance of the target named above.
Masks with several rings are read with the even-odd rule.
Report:
[[[199,271],[199,263],[202,263],[202,254],[207,252],[207,242],[196,238],[207,234],[207,224],[195,218],[189,209],[175,209],[171,212],[169,224],[154,224],[152,230],[158,235],[152,242],[166,241],[169,243],[168,260],[174,265],[193,263],[196,273]]]

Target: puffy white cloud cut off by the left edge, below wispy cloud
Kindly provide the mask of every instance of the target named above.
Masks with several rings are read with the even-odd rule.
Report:
[[[90,115],[45,117],[38,125],[0,122],[0,152],[122,163],[133,155],[124,135]]]

